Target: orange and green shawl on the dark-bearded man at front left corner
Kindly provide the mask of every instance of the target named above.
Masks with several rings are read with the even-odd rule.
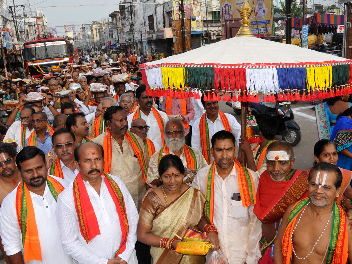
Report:
[[[64,187],[50,176],[46,177],[46,183],[55,201],[57,201],[57,196],[64,190]],[[24,262],[27,263],[30,262],[30,260],[42,261],[36,216],[34,215],[31,194],[24,181],[21,181],[17,187],[16,214],[18,225],[22,233]]]

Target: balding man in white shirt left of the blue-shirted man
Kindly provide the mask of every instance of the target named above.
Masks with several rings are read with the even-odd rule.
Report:
[[[34,114],[32,107],[23,107],[19,120],[21,121],[21,127],[19,127],[15,133],[15,140],[17,140],[17,152],[23,149],[25,146],[26,139],[29,138],[30,134],[34,131],[32,124],[32,115]]]

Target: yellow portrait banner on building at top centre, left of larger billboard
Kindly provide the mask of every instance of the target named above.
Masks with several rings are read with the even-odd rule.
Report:
[[[179,20],[181,15],[181,1],[173,0],[172,8],[174,9],[174,20]],[[191,31],[203,30],[201,0],[187,0],[183,2],[184,18],[191,19],[193,16],[195,20],[191,20]]]

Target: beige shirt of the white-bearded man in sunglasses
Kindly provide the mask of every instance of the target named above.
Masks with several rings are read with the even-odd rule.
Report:
[[[205,166],[207,166],[208,163],[206,162],[206,160],[203,157],[202,153],[199,152],[198,150],[194,149],[193,147],[191,149],[194,151],[194,155],[196,156],[196,159],[197,159],[197,169],[200,170],[201,168],[204,168]],[[148,169],[148,175],[147,175],[147,184],[150,184],[152,181],[154,181],[156,179],[159,179],[159,173],[158,173],[159,150],[160,149],[158,149],[150,157],[150,163],[149,163],[149,169]],[[170,154],[174,154],[174,152],[170,151]],[[184,168],[187,168],[187,160],[186,160],[186,156],[184,155],[183,148],[182,148],[182,154],[180,156],[180,159],[181,159],[181,161],[183,163]],[[190,177],[193,177],[193,175],[192,174],[187,174],[187,176],[183,180],[186,180],[186,179],[188,179]]]

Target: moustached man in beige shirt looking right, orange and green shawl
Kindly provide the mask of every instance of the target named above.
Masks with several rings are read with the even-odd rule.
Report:
[[[103,146],[104,171],[124,182],[139,211],[149,165],[143,140],[128,131],[127,115],[121,106],[109,107],[104,120],[107,131],[92,141]]]

